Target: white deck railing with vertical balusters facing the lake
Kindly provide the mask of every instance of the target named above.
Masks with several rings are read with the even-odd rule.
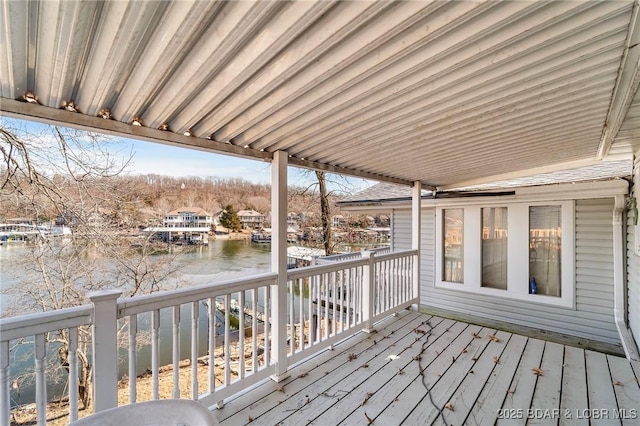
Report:
[[[128,363],[130,403],[141,400],[141,385],[134,378],[139,366],[146,364],[151,372],[150,399],[187,394],[208,407],[274,375],[277,363],[290,365],[359,330],[373,329],[378,319],[417,304],[412,274],[416,257],[415,250],[383,255],[364,252],[356,260],[289,270],[285,289],[279,289],[277,275],[269,273],[134,298],[118,299],[118,291],[102,292],[90,297],[91,305],[2,319],[0,424],[9,424],[11,416],[12,342],[35,341],[38,424],[46,423],[47,333],[69,332],[69,383],[77,383],[77,330],[86,325],[93,325],[96,411],[118,404],[119,362]],[[274,312],[271,301],[274,292],[281,290],[287,292],[287,303]],[[186,358],[180,348],[180,325],[185,321],[190,335]],[[171,330],[170,395],[160,391],[161,327]],[[274,357],[277,351],[270,338],[275,327],[287,330],[287,351],[279,354],[285,359]],[[118,339],[122,334],[127,338]],[[123,340],[126,349],[118,343]],[[200,347],[201,341],[206,342],[205,347]],[[141,344],[150,345],[150,359],[141,359]],[[185,359],[190,369],[187,381],[179,375]],[[206,379],[201,379],[203,376]],[[77,386],[67,388],[69,419],[73,421],[78,417],[78,391]]]

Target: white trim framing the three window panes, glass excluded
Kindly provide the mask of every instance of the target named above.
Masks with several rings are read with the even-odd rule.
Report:
[[[562,208],[561,297],[529,294],[529,206],[547,205],[559,205]],[[509,257],[507,259],[506,290],[481,286],[481,209],[490,207],[507,207],[507,226],[509,230],[507,247]],[[436,256],[436,287],[575,309],[575,202],[573,200],[487,203],[465,207],[460,205],[439,205],[436,207],[435,220],[436,253],[441,253],[442,250],[442,211],[447,208],[464,209],[464,283],[443,281],[443,259],[442,256]]]

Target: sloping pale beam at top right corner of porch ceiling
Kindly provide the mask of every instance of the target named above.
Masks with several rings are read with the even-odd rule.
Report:
[[[633,2],[633,12],[629,22],[629,32],[625,41],[618,78],[613,89],[613,97],[603,123],[602,137],[596,158],[603,160],[609,155],[613,141],[622,127],[631,102],[640,86],[640,6]]]

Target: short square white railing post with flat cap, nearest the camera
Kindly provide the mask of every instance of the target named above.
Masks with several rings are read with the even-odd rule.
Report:
[[[118,406],[118,303],[120,290],[89,294],[93,303],[94,412]]]

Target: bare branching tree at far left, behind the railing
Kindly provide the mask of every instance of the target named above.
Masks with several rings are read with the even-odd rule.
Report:
[[[4,315],[82,305],[88,292],[108,287],[119,287],[125,295],[157,291],[176,268],[173,257],[151,256],[157,249],[149,238],[133,245],[126,238],[138,206],[127,186],[114,180],[128,161],[117,162],[106,147],[110,141],[99,135],[58,127],[35,133],[32,128],[0,119],[0,201],[14,203],[30,217],[56,219],[73,233],[37,238],[29,245],[29,254],[13,268],[16,285],[2,288],[11,301]],[[88,328],[78,331],[77,386],[87,408],[91,334]],[[49,333],[47,341],[58,349],[59,362],[52,368],[68,370],[67,332]]]

